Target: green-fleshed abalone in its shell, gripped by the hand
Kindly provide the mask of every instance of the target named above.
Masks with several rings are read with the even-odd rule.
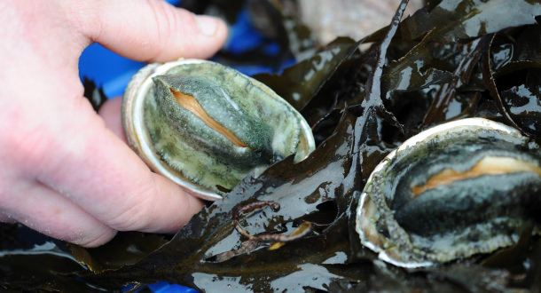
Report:
[[[124,94],[122,123],[156,172],[207,200],[240,179],[315,148],[310,126],[269,87],[200,59],[150,64]]]

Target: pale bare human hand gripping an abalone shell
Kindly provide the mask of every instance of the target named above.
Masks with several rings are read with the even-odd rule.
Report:
[[[202,202],[126,145],[120,99],[93,111],[78,59],[93,42],[143,61],[208,58],[225,24],[153,0],[6,0],[0,23],[0,220],[85,247],[184,226]]]

